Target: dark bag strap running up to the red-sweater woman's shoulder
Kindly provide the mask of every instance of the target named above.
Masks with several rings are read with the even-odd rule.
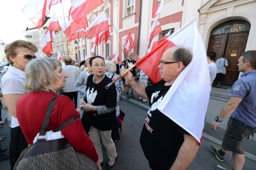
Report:
[[[59,96],[60,95],[54,96],[51,99],[50,104],[48,105],[47,111],[44,116],[44,121],[43,121],[42,127],[40,128],[40,131],[39,131],[39,136],[44,136],[46,134],[46,129],[47,129],[47,126],[48,126],[48,123],[49,123],[49,120],[50,120],[50,117],[52,114],[52,110],[53,110],[56,98]]]

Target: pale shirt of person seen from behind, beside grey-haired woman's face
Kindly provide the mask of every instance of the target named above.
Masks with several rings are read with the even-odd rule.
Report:
[[[68,74],[68,78],[66,78],[66,86],[63,88],[63,92],[68,93],[77,91],[75,85],[80,74],[79,68],[72,65],[66,65],[63,66],[62,69],[66,74]]]

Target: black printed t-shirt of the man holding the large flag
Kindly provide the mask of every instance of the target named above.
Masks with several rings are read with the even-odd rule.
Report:
[[[165,82],[161,80],[145,89],[151,108],[142,128],[140,145],[148,161],[170,169],[184,142],[183,134],[189,133],[156,109],[171,87],[164,86]]]

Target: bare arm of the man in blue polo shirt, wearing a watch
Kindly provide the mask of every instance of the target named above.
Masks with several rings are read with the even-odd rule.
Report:
[[[218,115],[220,120],[225,119],[229,115],[233,113],[233,111],[236,110],[238,104],[242,101],[242,98],[231,96],[228,103],[225,104],[223,109],[221,110],[220,114]],[[212,129],[217,131],[217,127],[220,125],[219,122],[216,122],[215,120],[212,121],[211,126]]]

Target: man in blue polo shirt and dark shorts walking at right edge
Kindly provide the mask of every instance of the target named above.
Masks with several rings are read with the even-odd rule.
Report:
[[[223,119],[228,117],[227,130],[222,141],[222,148],[210,145],[210,150],[216,158],[224,161],[228,151],[233,152],[233,169],[242,170],[245,162],[245,143],[249,136],[256,132],[256,50],[243,53],[238,60],[238,71],[243,72],[230,91],[230,99],[220,114],[212,122],[212,128],[217,131]],[[217,166],[216,169],[225,169]]]

